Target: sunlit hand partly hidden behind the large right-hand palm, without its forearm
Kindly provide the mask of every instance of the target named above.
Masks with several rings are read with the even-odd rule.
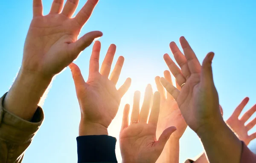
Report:
[[[164,71],[165,79],[172,84],[172,77],[168,70]],[[161,95],[160,113],[157,123],[157,138],[169,126],[175,126],[177,131],[172,134],[172,138],[179,140],[186,130],[187,124],[181,115],[177,102],[170,93],[167,93],[160,83],[160,77],[155,78],[157,90]],[[180,90],[179,84],[176,82],[176,87]]]

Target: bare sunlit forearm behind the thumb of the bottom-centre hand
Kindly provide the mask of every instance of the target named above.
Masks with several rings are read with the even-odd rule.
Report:
[[[180,141],[179,138],[171,137],[167,141],[157,163],[179,163]]]

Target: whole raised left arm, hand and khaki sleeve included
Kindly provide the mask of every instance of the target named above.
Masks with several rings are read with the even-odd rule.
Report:
[[[43,111],[38,104],[44,101],[53,76],[73,62],[93,39],[102,36],[101,32],[94,31],[77,39],[97,0],[88,0],[76,17],[71,18],[78,5],[78,0],[75,1],[75,5],[68,1],[60,14],[64,0],[54,0],[50,13],[43,16],[42,1],[33,0],[33,19],[24,45],[22,65],[1,101],[1,162],[22,160],[43,121]]]

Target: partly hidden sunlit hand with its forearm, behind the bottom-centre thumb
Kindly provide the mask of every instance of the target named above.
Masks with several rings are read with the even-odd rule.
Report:
[[[164,77],[169,82],[172,83],[172,77],[168,70],[164,71]],[[175,126],[177,128],[163,149],[162,154],[157,160],[157,163],[178,163],[179,162],[179,148],[180,148],[180,138],[186,130],[187,124],[181,115],[180,109],[177,102],[172,97],[171,94],[166,93],[164,87],[160,83],[160,77],[155,78],[157,85],[157,90],[161,95],[160,113],[157,124],[157,135],[160,135],[166,127]],[[176,87],[180,90],[179,84],[176,82]]]

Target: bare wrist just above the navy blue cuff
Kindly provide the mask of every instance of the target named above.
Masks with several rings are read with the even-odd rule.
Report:
[[[108,128],[102,124],[81,120],[79,124],[79,136],[108,135]]]

